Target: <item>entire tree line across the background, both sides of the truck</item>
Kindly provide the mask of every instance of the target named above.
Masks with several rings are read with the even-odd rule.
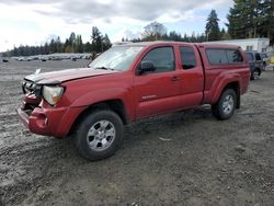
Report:
[[[176,41],[176,42],[212,42],[220,39],[269,37],[274,44],[274,0],[233,0],[227,15],[227,30],[219,27],[217,12],[212,10],[205,25],[205,32],[192,35],[169,32],[167,27],[152,22],[144,27],[138,38],[122,38],[122,42]],[[107,34],[102,35],[96,26],[92,27],[91,41],[83,43],[81,35],[73,32],[62,43],[60,37],[45,43],[43,46],[20,46],[4,53],[4,56],[47,55],[53,53],[102,53],[112,46]]]

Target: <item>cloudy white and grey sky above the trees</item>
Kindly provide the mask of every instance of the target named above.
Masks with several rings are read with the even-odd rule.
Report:
[[[215,9],[220,26],[232,0],[1,0],[0,52],[13,45],[41,45],[53,36],[65,41],[71,32],[90,41],[92,26],[112,42],[138,37],[152,21],[168,31],[203,33]]]

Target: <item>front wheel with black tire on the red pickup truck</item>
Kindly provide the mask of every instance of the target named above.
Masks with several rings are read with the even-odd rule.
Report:
[[[104,123],[110,123],[107,126],[105,126],[104,131],[101,133],[106,133],[106,127],[114,128],[114,134],[115,137],[113,140],[106,140],[109,136],[106,137],[106,134],[103,136],[105,137],[99,137],[100,134],[98,135],[91,135],[88,136],[88,133],[91,133],[91,130],[95,130],[95,133],[100,133],[101,124],[102,122]],[[99,125],[99,126],[98,126]],[[96,130],[96,127],[100,127],[99,130]],[[102,135],[102,134],[101,134]],[[96,161],[101,159],[105,159],[114,154],[114,152],[119,148],[123,141],[123,135],[124,135],[124,126],[121,117],[113,111],[110,110],[104,110],[104,111],[94,111],[87,115],[79,124],[75,137],[73,137],[73,142],[79,151],[79,153],[91,161]],[[103,148],[102,139],[101,141],[99,138],[105,139],[106,142],[109,144],[107,148]],[[104,141],[105,141],[104,140]],[[93,146],[89,145],[92,144],[93,141],[98,144],[92,144]],[[100,146],[101,144],[101,146]],[[100,151],[99,151],[100,150]]]

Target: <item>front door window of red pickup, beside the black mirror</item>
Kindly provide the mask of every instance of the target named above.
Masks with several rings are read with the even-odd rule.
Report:
[[[175,70],[175,59],[172,47],[159,47],[150,50],[142,59],[153,62],[153,72],[165,72]]]

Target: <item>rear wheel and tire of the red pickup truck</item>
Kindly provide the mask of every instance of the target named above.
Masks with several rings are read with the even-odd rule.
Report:
[[[213,115],[220,121],[228,119],[233,115],[236,104],[237,95],[235,90],[226,89],[220,95],[218,102],[212,105]]]

